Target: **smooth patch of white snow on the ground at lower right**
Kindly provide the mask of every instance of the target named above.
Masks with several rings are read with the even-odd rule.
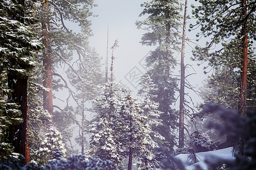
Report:
[[[228,148],[224,148],[216,151],[196,153],[197,159],[199,160],[199,162],[192,165],[188,160],[189,154],[180,154],[175,156],[175,158],[180,159],[187,170],[196,169],[197,165],[199,165],[201,169],[207,170],[208,169],[207,164],[205,164],[204,162],[204,160],[206,159],[220,158],[222,160],[229,160],[229,161],[234,160],[235,158],[232,156],[232,149],[233,147],[228,147]]]

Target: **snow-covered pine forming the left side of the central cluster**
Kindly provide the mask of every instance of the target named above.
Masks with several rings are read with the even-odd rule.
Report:
[[[96,116],[90,123],[91,156],[112,160],[115,167],[123,167],[118,133],[114,131],[113,117],[119,117],[123,101],[123,89],[113,82],[101,88],[102,93],[92,100]]]

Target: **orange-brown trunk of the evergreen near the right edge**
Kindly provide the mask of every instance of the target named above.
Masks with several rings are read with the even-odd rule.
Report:
[[[246,17],[247,15],[247,5],[246,0],[242,0],[242,15]],[[247,41],[247,19],[243,21],[242,27],[242,66],[241,66],[241,92],[240,92],[240,108],[239,114],[246,113],[246,95],[247,95],[247,56],[248,56],[248,41]]]

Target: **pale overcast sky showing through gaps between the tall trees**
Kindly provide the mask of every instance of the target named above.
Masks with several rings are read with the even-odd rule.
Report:
[[[94,36],[90,38],[90,45],[96,48],[100,57],[103,58],[102,62],[105,62],[106,57],[106,42],[107,42],[107,30],[109,25],[109,48],[113,45],[114,40],[118,39],[119,48],[114,51],[114,73],[117,82],[123,83],[129,87],[130,90],[137,93],[135,87],[137,87],[137,75],[141,75],[146,70],[140,64],[141,59],[150,51],[154,50],[154,47],[142,46],[139,41],[142,34],[145,33],[142,30],[137,29],[135,25],[136,20],[142,20],[139,14],[143,10],[141,3],[143,0],[95,0],[98,6],[93,8],[93,13],[98,17],[92,18],[92,30]],[[190,4],[188,13],[191,11]],[[187,28],[189,22],[188,20]],[[196,32],[188,32],[187,36],[195,37]],[[197,42],[198,43],[198,42]],[[205,42],[200,42],[204,44]],[[191,48],[186,44],[185,49],[185,62],[191,63],[194,69],[197,71],[197,75],[191,77],[190,81],[194,86],[201,86],[201,81],[206,77],[203,74],[203,70],[196,66],[196,63],[190,61],[192,55]],[[111,56],[111,50],[109,50],[109,58]],[[180,54],[176,54],[177,59],[180,59]],[[110,63],[110,60],[109,60]],[[176,74],[179,74],[179,66],[176,70]],[[192,70],[188,70],[192,73]],[[187,72],[187,74],[189,74]],[[135,75],[135,76],[132,76]],[[201,101],[198,96],[191,93],[194,97],[195,103]],[[178,106],[179,103],[176,103]]]

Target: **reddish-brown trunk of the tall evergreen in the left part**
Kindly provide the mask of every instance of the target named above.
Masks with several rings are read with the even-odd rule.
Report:
[[[44,3],[43,7],[48,8],[48,2]],[[46,47],[43,51],[43,66],[44,66],[44,75],[43,75],[43,86],[48,88],[49,91],[43,91],[43,107],[46,109],[49,114],[53,114],[53,102],[52,102],[52,60],[51,60],[51,46],[50,38],[48,35],[49,31],[49,20],[47,19],[42,23],[43,29],[43,44]]]

